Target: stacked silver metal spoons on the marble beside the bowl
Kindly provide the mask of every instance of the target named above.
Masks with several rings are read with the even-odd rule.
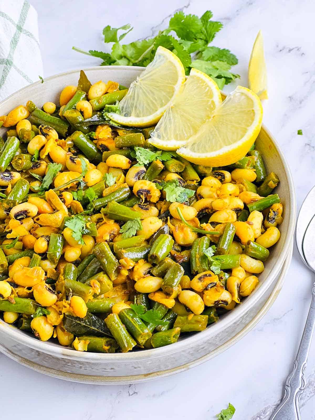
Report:
[[[315,273],[315,207],[312,201],[315,200],[315,189],[313,188],[307,195],[302,204],[297,221],[297,229],[301,226],[306,231],[296,231],[296,241],[302,260],[308,268]],[[309,207],[312,205],[312,207]],[[305,208],[304,208],[305,207]],[[312,210],[310,210],[310,208]],[[313,214],[313,218],[309,221],[309,215]],[[301,219],[302,218],[302,219]],[[297,352],[297,357],[293,363],[293,369],[286,378],[284,386],[283,399],[276,408],[270,420],[300,420],[299,399],[304,391],[306,380],[304,372],[307,365],[307,357],[310,351],[312,336],[315,326],[315,282],[312,287],[312,302],[310,311],[307,315],[301,343]]]

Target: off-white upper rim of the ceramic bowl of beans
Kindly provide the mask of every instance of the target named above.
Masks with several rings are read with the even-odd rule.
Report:
[[[130,67],[130,66],[94,66],[94,67],[84,68],[83,70],[100,72],[101,70],[105,70],[105,68],[106,68],[106,71],[112,71],[112,72],[115,72],[117,70],[130,72],[132,69],[133,72],[138,72],[139,74],[144,70],[144,67]],[[69,70],[63,73],[55,74],[53,76],[49,76],[45,78],[44,81],[54,81],[66,75],[78,74],[80,70],[81,69]],[[3,101],[1,101],[0,107],[5,105],[15,96],[21,93],[27,92],[29,89],[40,84],[42,84],[42,82],[39,80],[32,84],[27,85],[26,87],[19,89],[18,91],[14,92],[13,94],[5,98]],[[226,95],[224,92],[222,93],[223,95]],[[130,362],[132,360],[134,361],[146,360],[149,358],[150,359],[158,358],[158,357],[174,354],[177,352],[181,352],[189,346],[194,346],[197,343],[201,343],[207,340],[208,336],[215,335],[216,333],[219,333],[221,330],[224,330],[225,328],[228,328],[229,326],[231,326],[231,324],[235,322],[236,318],[242,317],[250,309],[250,307],[255,305],[255,303],[265,293],[265,291],[268,289],[268,287],[270,286],[274,278],[280,272],[283,266],[283,263],[286,260],[286,257],[289,253],[291,242],[293,240],[294,228],[295,228],[297,205],[296,205],[294,183],[291,176],[291,171],[289,169],[289,165],[286,162],[286,158],[284,157],[279,147],[278,142],[275,140],[275,138],[272,136],[270,131],[263,124],[262,124],[262,129],[265,131],[265,133],[270,137],[271,141],[273,142],[273,145],[276,149],[276,152],[278,153],[278,156],[285,170],[287,183],[289,185],[290,221],[288,225],[288,230],[286,232],[287,238],[286,238],[285,243],[283,244],[281,251],[279,252],[278,260],[274,264],[273,270],[270,273],[270,275],[266,278],[266,280],[263,283],[260,284],[260,287],[259,289],[257,289],[256,293],[252,294],[251,299],[246,299],[245,302],[243,302],[243,304],[239,305],[233,311],[229,312],[227,316],[220,318],[220,320],[217,323],[212,324],[211,328],[206,328],[203,331],[195,333],[191,336],[187,336],[183,340],[173,343],[172,346],[164,346],[164,347],[159,347],[156,349],[146,349],[145,351],[136,351],[136,352],[128,352],[128,353],[110,353],[110,354],[77,352],[74,349],[63,347],[58,344],[50,343],[49,341],[39,341],[35,337],[31,337],[25,334],[23,331],[18,330],[16,327],[4,323],[2,320],[0,320],[0,331],[3,331],[3,333],[6,333],[13,340],[17,342],[22,342],[24,345],[31,347],[32,349],[35,349],[35,350],[38,350],[40,352],[44,352],[47,354],[51,354],[57,357],[63,357],[63,358],[71,357],[72,360],[78,360],[78,361],[83,361],[83,362],[84,361],[110,362],[110,361],[117,361],[118,359],[121,359],[123,357],[123,361]]]

